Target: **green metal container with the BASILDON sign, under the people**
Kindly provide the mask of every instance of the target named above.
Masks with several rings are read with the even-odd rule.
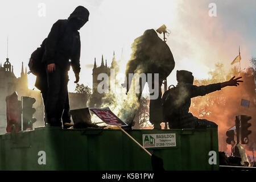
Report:
[[[218,170],[217,129],[127,131],[166,170]],[[0,135],[0,170],[152,170],[151,157],[121,130],[38,127]]]

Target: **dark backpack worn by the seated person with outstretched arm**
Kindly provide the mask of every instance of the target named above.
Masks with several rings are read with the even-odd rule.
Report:
[[[171,86],[173,87],[170,88]],[[178,96],[178,89],[174,85],[170,85],[162,96],[163,116],[166,121],[170,121],[170,118],[175,117],[177,110],[179,110],[176,105]]]

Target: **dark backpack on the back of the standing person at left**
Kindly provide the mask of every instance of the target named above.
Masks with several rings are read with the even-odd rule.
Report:
[[[28,74],[32,73],[35,76],[39,76],[45,71],[45,65],[42,63],[45,43],[46,39],[44,39],[40,47],[36,48],[36,50],[31,54],[30,61],[28,62],[28,67],[30,68]]]

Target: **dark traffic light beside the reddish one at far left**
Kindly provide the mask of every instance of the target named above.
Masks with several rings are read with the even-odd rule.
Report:
[[[32,106],[35,101],[35,98],[32,97],[22,97],[22,130],[33,129],[33,123],[36,122],[33,114],[36,110]]]

